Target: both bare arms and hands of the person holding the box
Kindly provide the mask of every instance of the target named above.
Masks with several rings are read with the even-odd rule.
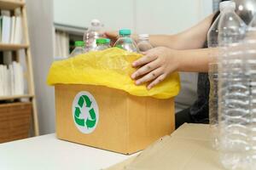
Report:
[[[155,46],[144,53],[132,65],[137,68],[131,78],[137,85],[148,82],[148,89],[163,81],[174,71],[207,72],[211,62],[211,49],[202,49],[207,40],[207,31],[211,26],[213,14],[198,25],[173,36],[151,36],[150,42]],[[113,32],[112,32],[113,33]],[[117,38],[117,34],[105,34]],[[201,48],[201,49],[198,49]],[[183,49],[183,50],[181,50]]]

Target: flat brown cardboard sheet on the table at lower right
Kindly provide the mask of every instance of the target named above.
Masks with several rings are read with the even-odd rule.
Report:
[[[222,170],[208,125],[184,124],[143,152],[108,170]]]

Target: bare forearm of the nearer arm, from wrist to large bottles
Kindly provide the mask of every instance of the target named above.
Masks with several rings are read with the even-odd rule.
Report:
[[[177,52],[177,71],[207,72],[209,63],[213,62],[209,48],[180,50]]]

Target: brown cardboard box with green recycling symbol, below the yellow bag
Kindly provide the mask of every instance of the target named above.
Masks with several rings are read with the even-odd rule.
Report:
[[[92,85],[55,85],[57,138],[123,154],[175,129],[173,99]],[[92,111],[93,110],[93,111]]]

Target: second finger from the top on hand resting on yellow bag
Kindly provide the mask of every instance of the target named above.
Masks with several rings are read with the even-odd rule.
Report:
[[[139,68],[137,71],[135,71],[132,75],[131,78],[132,79],[136,79],[137,77],[141,77],[144,74],[150,72],[150,71],[154,71],[155,69],[157,69],[160,66],[159,62],[157,59],[155,59],[154,61],[148,63],[147,65],[143,65],[143,67]]]

